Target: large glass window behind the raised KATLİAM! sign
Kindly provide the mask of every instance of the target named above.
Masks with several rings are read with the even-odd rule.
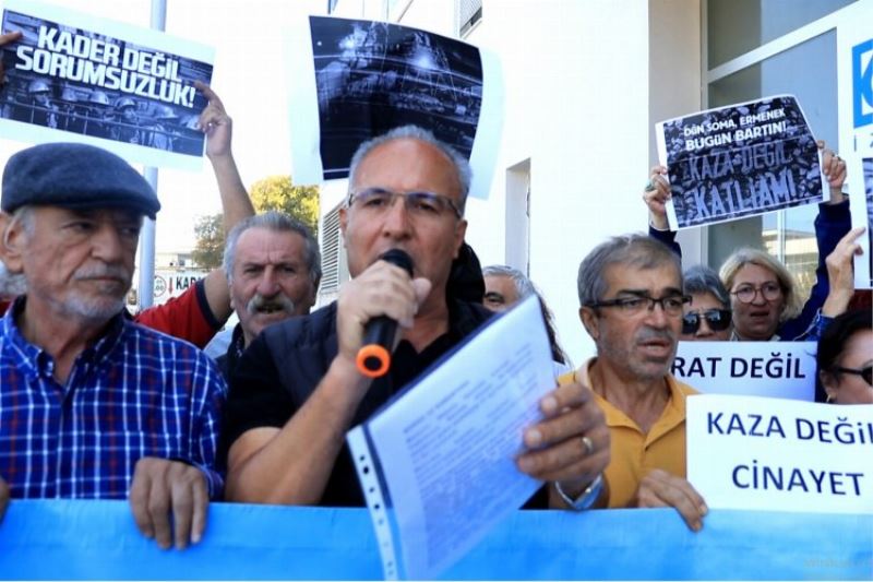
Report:
[[[815,136],[836,147],[836,32],[820,35],[711,83],[709,105],[718,107],[767,95],[793,94]],[[718,266],[734,248],[752,244],[778,257],[798,278],[802,293],[809,293],[815,283],[818,258],[813,227],[817,212],[817,205],[808,204],[711,226],[709,264]]]

